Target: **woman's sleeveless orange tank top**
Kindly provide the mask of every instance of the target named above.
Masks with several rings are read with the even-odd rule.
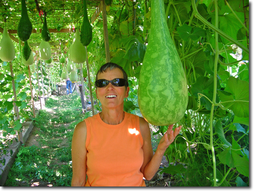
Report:
[[[140,168],[143,164],[143,138],[139,116],[125,112],[118,125],[102,121],[99,113],[84,119],[86,137],[85,186],[146,186]]]

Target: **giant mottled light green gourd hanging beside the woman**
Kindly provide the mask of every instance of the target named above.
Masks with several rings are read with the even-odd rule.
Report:
[[[151,0],[151,29],[138,88],[139,108],[151,124],[171,125],[185,114],[188,87],[165,19],[163,0]]]

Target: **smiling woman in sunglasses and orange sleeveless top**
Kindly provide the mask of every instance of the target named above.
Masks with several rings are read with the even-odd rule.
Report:
[[[75,127],[71,186],[146,186],[143,177],[153,178],[181,126],[174,131],[173,125],[168,127],[153,155],[149,124],[123,110],[129,93],[125,71],[106,63],[96,75],[95,87],[102,111]]]

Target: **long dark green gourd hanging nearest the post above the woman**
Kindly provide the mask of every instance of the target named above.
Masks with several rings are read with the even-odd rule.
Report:
[[[86,0],[83,0],[83,24],[81,26],[80,41],[83,46],[88,46],[92,40],[92,26],[88,19]]]

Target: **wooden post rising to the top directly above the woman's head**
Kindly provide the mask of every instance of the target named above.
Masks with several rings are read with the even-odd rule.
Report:
[[[106,61],[110,62],[110,53],[109,53],[109,42],[108,42],[108,24],[107,24],[107,11],[105,1],[102,0],[100,3],[102,5],[102,18],[103,18],[103,30],[104,30],[104,42],[105,42],[105,53],[106,53]]]

